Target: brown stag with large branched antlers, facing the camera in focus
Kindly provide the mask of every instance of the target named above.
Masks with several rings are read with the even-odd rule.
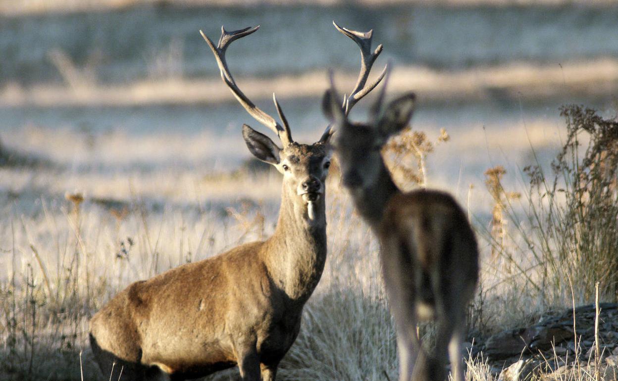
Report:
[[[326,261],[325,180],[332,134],[327,127],[316,143],[297,143],[274,94],[281,123],[236,85],[226,49],[258,28],[228,32],[222,27],[216,45],[200,33],[234,97],[281,141],[279,148],[263,133],[242,127],[250,153],[283,177],[273,235],[117,293],[90,320],[92,352],[106,379],[184,380],[237,366],[244,381],[273,381],[297,338],[303,306]]]

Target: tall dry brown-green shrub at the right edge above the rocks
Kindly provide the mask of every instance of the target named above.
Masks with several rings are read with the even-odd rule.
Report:
[[[562,107],[561,116],[567,139],[551,168],[537,161],[523,169],[529,177],[526,210],[522,214],[507,206],[507,218],[519,232],[521,243],[515,246],[536,269],[531,275],[531,267],[519,265],[520,275],[544,303],[570,299],[570,290],[577,290],[578,302],[590,301],[596,282],[604,299],[616,301],[618,119],[604,119],[580,106]],[[504,193],[501,185],[494,188]],[[491,233],[486,236],[493,251],[514,261],[502,242]]]

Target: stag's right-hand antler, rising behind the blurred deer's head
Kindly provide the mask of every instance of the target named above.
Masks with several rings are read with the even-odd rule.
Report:
[[[363,33],[340,27],[334,21],[332,22],[332,25],[334,25],[337,30],[341,31],[341,33],[352,39],[358,45],[358,48],[360,48],[360,73],[358,73],[358,80],[354,86],[354,89],[350,93],[350,96],[345,99],[342,106],[345,110],[345,115],[348,115],[352,107],[360,101],[360,99],[362,99],[366,94],[369,94],[371,90],[378,86],[378,83],[380,83],[380,81],[384,78],[384,74],[386,74],[388,64],[384,66],[384,70],[382,70],[382,73],[380,73],[374,82],[371,82],[370,85],[365,86],[367,79],[369,78],[369,73],[371,72],[373,62],[376,61],[379,54],[382,52],[382,44],[379,44],[378,48],[371,52],[371,36],[373,35],[373,30]]]

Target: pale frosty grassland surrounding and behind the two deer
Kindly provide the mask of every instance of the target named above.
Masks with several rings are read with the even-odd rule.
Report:
[[[222,83],[199,30],[217,41],[221,25],[261,25],[228,49],[229,68],[271,115],[276,93],[295,140],[313,143],[326,127],[328,70],[343,93],[360,69],[357,46],[333,20],[373,29],[373,46],[384,51],[370,78],[391,60],[390,97],[417,93],[413,132],[394,140],[387,156],[405,187],[420,178],[468,211],[484,286],[471,332],[538,321],[570,306],[573,288],[577,303],[593,299],[597,274],[616,268],[609,265],[618,247],[615,187],[607,196],[596,182],[600,196],[588,205],[604,212],[574,224],[579,217],[567,212],[580,216],[580,193],[564,196],[570,211],[546,209],[554,195],[535,193],[527,174],[540,172],[524,168],[548,168],[572,142],[562,105],[616,115],[617,1],[0,0],[0,379],[96,379],[88,319],[112,295],[273,232],[281,175],[250,161],[241,126],[273,134]],[[351,118],[365,120],[373,98]],[[577,167],[573,160],[563,172]],[[572,170],[567,188],[604,168]],[[394,380],[377,243],[339,186],[336,165],[332,172],[328,261],[280,378]],[[514,210],[530,212],[519,219]],[[569,254],[562,267],[554,248]],[[579,253],[601,254],[570,256]],[[615,287],[615,278],[605,285]],[[609,289],[607,301],[615,301]],[[208,380],[231,379],[215,377]]]

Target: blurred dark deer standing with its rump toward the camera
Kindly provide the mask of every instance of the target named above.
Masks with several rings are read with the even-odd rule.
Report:
[[[342,33],[357,43],[371,35],[345,28]],[[390,68],[385,70],[388,77]],[[448,193],[429,189],[404,193],[393,181],[381,149],[408,125],[416,96],[406,93],[383,107],[386,85],[387,79],[370,107],[370,121],[350,122],[353,95],[340,103],[331,72],[323,111],[336,135],[332,145],[341,181],[379,241],[384,288],[396,325],[399,380],[444,380],[448,357],[453,379],[464,381],[460,353],[479,271],[475,234]],[[418,322],[428,319],[436,322],[431,353],[423,350],[417,336]]]

